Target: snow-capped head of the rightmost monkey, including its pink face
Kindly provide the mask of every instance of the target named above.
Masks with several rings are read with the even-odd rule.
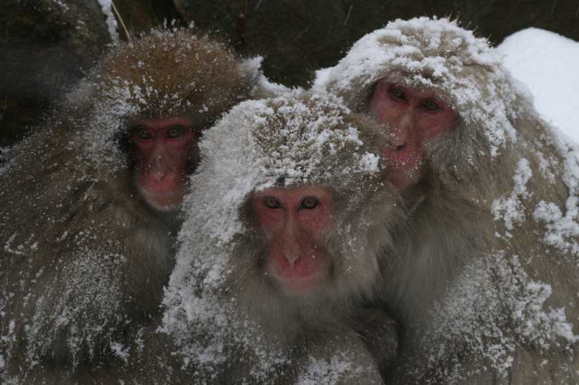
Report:
[[[341,95],[383,123],[381,154],[399,189],[424,176],[453,188],[500,167],[526,109],[522,91],[486,39],[448,19],[392,21],[361,38],[314,88]],[[468,160],[468,161],[464,161]]]

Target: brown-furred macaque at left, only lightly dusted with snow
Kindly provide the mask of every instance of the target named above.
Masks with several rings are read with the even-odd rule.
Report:
[[[21,144],[0,180],[1,382],[106,382],[106,366],[137,366],[198,138],[248,97],[259,62],[153,30],[115,46]]]

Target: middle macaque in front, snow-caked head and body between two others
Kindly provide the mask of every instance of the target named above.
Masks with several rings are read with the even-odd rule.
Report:
[[[371,240],[402,214],[363,117],[334,99],[247,101],[206,131],[164,298],[192,383],[383,383],[397,328],[363,305],[379,283]]]

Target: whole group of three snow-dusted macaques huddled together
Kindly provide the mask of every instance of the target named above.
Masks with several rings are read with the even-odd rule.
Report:
[[[488,41],[391,21],[307,90],[260,62],[152,30],[19,144],[1,382],[579,383],[579,147]]]

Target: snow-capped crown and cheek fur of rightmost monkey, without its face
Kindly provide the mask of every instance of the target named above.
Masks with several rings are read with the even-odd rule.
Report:
[[[316,74],[314,88],[337,93],[354,111],[365,111],[377,82],[435,91],[457,113],[456,129],[428,144],[427,158],[450,173],[457,159],[471,160],[458,178],[475,173],[516,139],[514,121],[522,95],[501,64],[502,57],[455,21],[419,17],[396,20],[357,41],[334,67]],[[444,149],[438,142],[444,142]],[[476,151],[475,151],[476,147]],[[437,150],[439,149],[439,150]]]

